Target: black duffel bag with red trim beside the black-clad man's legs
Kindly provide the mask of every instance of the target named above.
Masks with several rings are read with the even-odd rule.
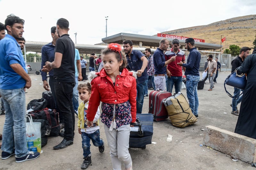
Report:
[[[58,136],[60,133],[60,122],[59,122],[59,113],[56,110],[51,110],[44,108],[41,110],[34,110],[28,114],[32,115],[33,118],[44,119],[49,122],[51,126],[50,136]]]

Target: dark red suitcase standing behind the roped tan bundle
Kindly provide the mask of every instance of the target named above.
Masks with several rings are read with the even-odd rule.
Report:
[[[148,113],[154,115],[155,121],[162,121],[168,118],[168,113],[166,111],[163,101],[170,96],[172,96],[171,92],[166,92],[162,90],[156,90],[149,93]]]

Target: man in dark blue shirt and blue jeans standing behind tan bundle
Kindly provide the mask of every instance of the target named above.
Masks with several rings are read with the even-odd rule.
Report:
[[[195,48],[195,40],[188,38],[185,40],[185,47],[189,50],[188,63],[180,62],[180,66],[186,67],[186,89],[189,106],[192,113],[198,118],[198,97],[197,97],[197,84],[200,80],[199,65],[201,60],[201,54]]]

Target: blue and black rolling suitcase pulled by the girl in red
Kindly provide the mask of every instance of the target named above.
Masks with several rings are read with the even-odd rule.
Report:
[[[134,128],[130,132],[129,147],[145,149],[147,144],[151,144],[154,116],[152,114],[137,114],[136,117],[138,123],[131,123]]]

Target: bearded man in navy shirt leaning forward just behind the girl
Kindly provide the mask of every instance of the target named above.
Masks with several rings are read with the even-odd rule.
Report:
[[[127,58],[127,69],[137,71],[137,113],[142,112],[143,102],[144,102],[144,90],[146,88],[146,80],[148,79],[147,71],[144,71],[148,66],[148,59],[146,56],[139,50],[132,49],[132,41],[125,40],[124,44],[124,53]]]

